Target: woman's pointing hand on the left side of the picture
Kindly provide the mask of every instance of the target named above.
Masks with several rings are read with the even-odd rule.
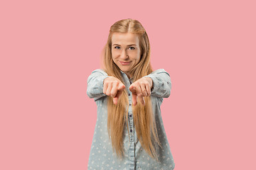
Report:
[[[107,77],[103,81],[103,94],[112,96],[114,104],[117,104],[118,98],[124,89],[124,84],[116,77]]]

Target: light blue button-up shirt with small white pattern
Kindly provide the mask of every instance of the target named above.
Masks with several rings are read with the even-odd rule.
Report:
[[[156,153],[159,158],[159,162],[157,162],[146,153],[137,138],[132,115],[132,93],[129,91],[129,86],[133,81],[132,78],[129,79],[127,77],[127,74],[122,71],[120,72],[122,73],[129,97],[129,133],[126,122],[124,125],[124,157],[123,159],[117,158],[116,153],[113,152],[111,139],[107,132],[107,95],[103,94],[103,80],[109,76],[102,69],[95,69],[87,79],[87,95],[90,98],[94,98],[97,104],[97,121],[87,168],[92,170],[174,169],[174,158],[166,137],[160,110],[163,98],[168,98],[171,94],[171,78],[169,74],[164,69],[157,69],[146,76],[150,77],[153,81],[150,97],[156,120],[156,128],[162,146],[162,148],[156,147]]]

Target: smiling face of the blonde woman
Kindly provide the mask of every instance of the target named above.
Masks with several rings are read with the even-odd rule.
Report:
[[[112,60],[130,78],[129,71],[140,60],[139,38],[135,33],[113,33]]]

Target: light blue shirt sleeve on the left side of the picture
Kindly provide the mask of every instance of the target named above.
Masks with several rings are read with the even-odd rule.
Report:
[[[103,94],[103,81],[107,77],[109,76],[102,69],[95,69],[87,79],[87,96],[94,98],[95,101],[102,96],[107,96]]]

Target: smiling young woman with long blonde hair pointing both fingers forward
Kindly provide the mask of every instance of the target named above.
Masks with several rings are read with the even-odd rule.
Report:
[[[160,110],[171,79],[164,69],[153,72],[142,24],[114,23],[104,57],[105,68],[87,79],[87,95],[97,104],[88,169],[174,169]]]

